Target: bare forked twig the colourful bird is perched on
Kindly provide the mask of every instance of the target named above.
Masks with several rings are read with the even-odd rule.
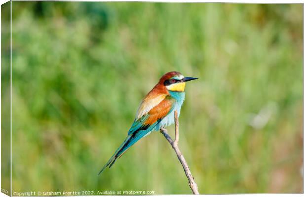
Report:
[[[168,140],[168,142],[171,144],[172,148],[174,149],[179,161],[181,162],[184,172],[186,174],[186,177],[188,178],[188,184],[189,187],[191,188],[193,194],[199,194],[199,191],[197,189],[197,184],[194,181],[194,178],[189,170],[189,167],[186,163],[186,160],[184,156],[182,155],[179,147],[178,147],[178,142],[179,142],[179,120],[178,120],[178,115],[177,111],[174,111],[174,121],[175,121],[175,139],[174,141],[171,139],[171,137],[168,135],[168,131],[165,128],[160,128],[160,132],[165,136],[165,138]]]

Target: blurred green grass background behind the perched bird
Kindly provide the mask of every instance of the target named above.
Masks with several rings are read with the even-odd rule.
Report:
[[[12,26],[13,191],[190,194],[159,133],[97,176],[177,70],[200,193],[302,192],[302,5],[14,1]]]

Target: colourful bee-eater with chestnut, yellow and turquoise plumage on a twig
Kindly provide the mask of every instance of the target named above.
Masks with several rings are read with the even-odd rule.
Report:
[[[127,137],[115,151],[112,157],[100,170],[111,168],[132,145],[152,131],[159,131],[174,123],[174,111],[179,117],[185,99],[185,85],[195,77],[184,77],[180,72],[172,71],[164,74],[159,82],[142,99],[134,122],[127,133]],[[99,175],[98,174],[98,175]]]

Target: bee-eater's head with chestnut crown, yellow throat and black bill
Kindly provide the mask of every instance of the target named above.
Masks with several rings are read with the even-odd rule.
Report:
[[[191,81],[194,77],[184,77],[180,72],[168,72],[164,74],[160,80],[159,84],[164,85],[167,90],[175,91],[175,92],[184,92],[185,90],[185,82]]]

